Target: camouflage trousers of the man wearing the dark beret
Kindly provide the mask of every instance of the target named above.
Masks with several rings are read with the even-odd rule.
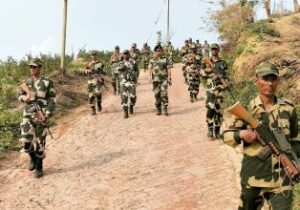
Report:
[[[168,106],[168,81],[153,82],[153,92],[155,97],[156,108],[161,108],[161,105]]]

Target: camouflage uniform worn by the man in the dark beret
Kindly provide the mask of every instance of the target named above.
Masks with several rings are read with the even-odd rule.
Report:
[[[168,107],[168,59],[165,57],[154,57],[150,60],[149,69],[152,71],[153,92],[155,97],[155,106],[158,112],[164,111]],[[167,114],[167,112],[165,112]]]

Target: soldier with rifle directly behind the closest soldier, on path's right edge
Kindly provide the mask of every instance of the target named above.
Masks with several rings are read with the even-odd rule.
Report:
[[[223,90],[227,87],[225,82],[227,76],[227,64],[219,57],[220,47],[218,44],[211,45],[212,57],[203,58],[203,69],[207,74],[206,84],[206,101],[205,106],[206,122],[208,126],[207,136],[213,140],[221,139],[220,126],[222,122],[222,102],[223,102]],[[205,62],[205,61],[208,61]],[[211,65],[210,65],[211,64]]]

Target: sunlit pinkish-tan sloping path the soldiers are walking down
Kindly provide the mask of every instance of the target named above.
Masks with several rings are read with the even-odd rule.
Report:
[[[168,117],[155,115],[148,75],[140,82],[127,120],[114,95],[96,117],[81,107],[64,119],[43,178],[33,178],[24,158],[1,170],[0,209],[236,209],[234,154],[206,139],[204,101],[189,102],[180,66]]]

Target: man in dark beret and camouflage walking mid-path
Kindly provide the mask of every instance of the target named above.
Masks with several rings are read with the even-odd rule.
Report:
[[[172,84],[171,70],[168,68],[168,58],[163,57],[163,48],[156,45],[155,55],[149,62],[150,77],[153,83],[153,92],[155,96],[155,106],[157,115],[161,115],[162,108],[164,114],[168,115],[168,85]]]

